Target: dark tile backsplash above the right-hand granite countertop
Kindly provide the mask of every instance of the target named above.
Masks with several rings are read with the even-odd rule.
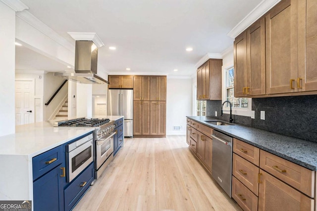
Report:
[[[317,95],[253,98],[252,110],[255,119],[233,115],[234,123],[317,142]],[[207,101],[207,116],[229,121],[229,114],[220,117],[220,111],[221,100]]]

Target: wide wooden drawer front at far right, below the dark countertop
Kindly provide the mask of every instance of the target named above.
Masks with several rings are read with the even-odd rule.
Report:
[[[261,150],[260,168],[306,195],[315,197],[315,172]]]

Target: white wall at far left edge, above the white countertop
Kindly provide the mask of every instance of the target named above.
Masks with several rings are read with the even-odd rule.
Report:
[[[15,11],[0,1],[0,136],[15,132]]]

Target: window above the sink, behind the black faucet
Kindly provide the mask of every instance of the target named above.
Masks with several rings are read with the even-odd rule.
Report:
[[[226,100],[231,102],[234,108],[247,108],[248,98],[234,97],[234,68],[226,70]],[[228,103],[227,103],[228,104]],[[229,104],[227,105],[229,107]]]

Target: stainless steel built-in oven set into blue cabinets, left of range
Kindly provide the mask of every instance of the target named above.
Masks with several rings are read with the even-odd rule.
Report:
[[[94,160],[93,134],[66,145],[67,182],[72,181]]]

